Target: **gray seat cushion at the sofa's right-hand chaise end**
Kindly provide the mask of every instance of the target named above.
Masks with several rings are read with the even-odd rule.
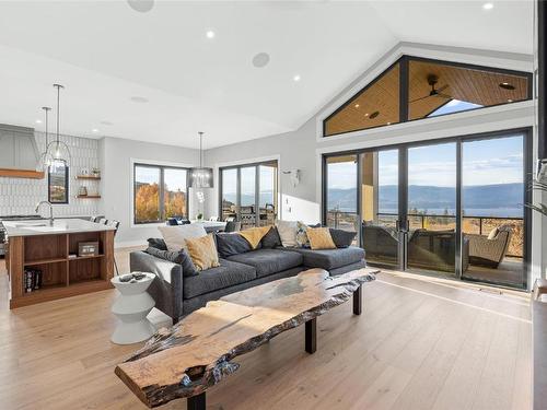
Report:
[[[326,270],[340,268],[364,259],[364,250],[354,246],[339,249],[303,249],[291,248],[284,253],[299,253],[304,257],[304,266],[307,268],[322,268]]]

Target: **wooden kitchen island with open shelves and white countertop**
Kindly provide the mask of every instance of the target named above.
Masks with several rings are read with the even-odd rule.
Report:
[[[4,221],[10,308],[110,289],[114,226],[77,220]],[[96,246],[82,255],[80,245]]]

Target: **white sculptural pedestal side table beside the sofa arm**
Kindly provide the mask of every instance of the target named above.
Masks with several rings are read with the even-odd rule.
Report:
[[[146,273],[146,278],[139,281],[121,282],[119,277],[110,279],[120,293],[112,306],[112,313],[119,319],[110,338],[113,343],[137,343],[155,333],[154,326],[147,319],[147,315],[155,305],[152,296],[147,293],[153,280],[152,273]]]

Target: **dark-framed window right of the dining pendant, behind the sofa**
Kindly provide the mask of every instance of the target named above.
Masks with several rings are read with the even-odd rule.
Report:
[[[277,218],[277,161],[220,169],[220,213],[242,229],[271,225]]]

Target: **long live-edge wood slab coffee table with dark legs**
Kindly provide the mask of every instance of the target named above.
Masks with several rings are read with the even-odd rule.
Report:
[[[171,329],[160,329],[147,344],[116,367],[119,378],[148,407],[186,397],[188,410],[205,410],[206,390],[240,365],[251,352],[282,331],[305,324],[305,350],[316,350],[316,318],[353,296],[360,315],[362,290],[375,269],[330,277],[311,269],[209,302]]]

